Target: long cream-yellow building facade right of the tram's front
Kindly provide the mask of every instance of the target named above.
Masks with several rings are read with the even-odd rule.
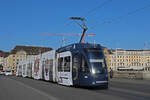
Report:
[[[150,50],[111,50],[108,62],[113,70],[119,68],[150,70]]]

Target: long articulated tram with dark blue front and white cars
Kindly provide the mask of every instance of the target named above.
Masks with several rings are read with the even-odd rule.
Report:
[[[66,86],[108,87],[107,66],[99,44],[71,44],[21,61],[17,76]]]

